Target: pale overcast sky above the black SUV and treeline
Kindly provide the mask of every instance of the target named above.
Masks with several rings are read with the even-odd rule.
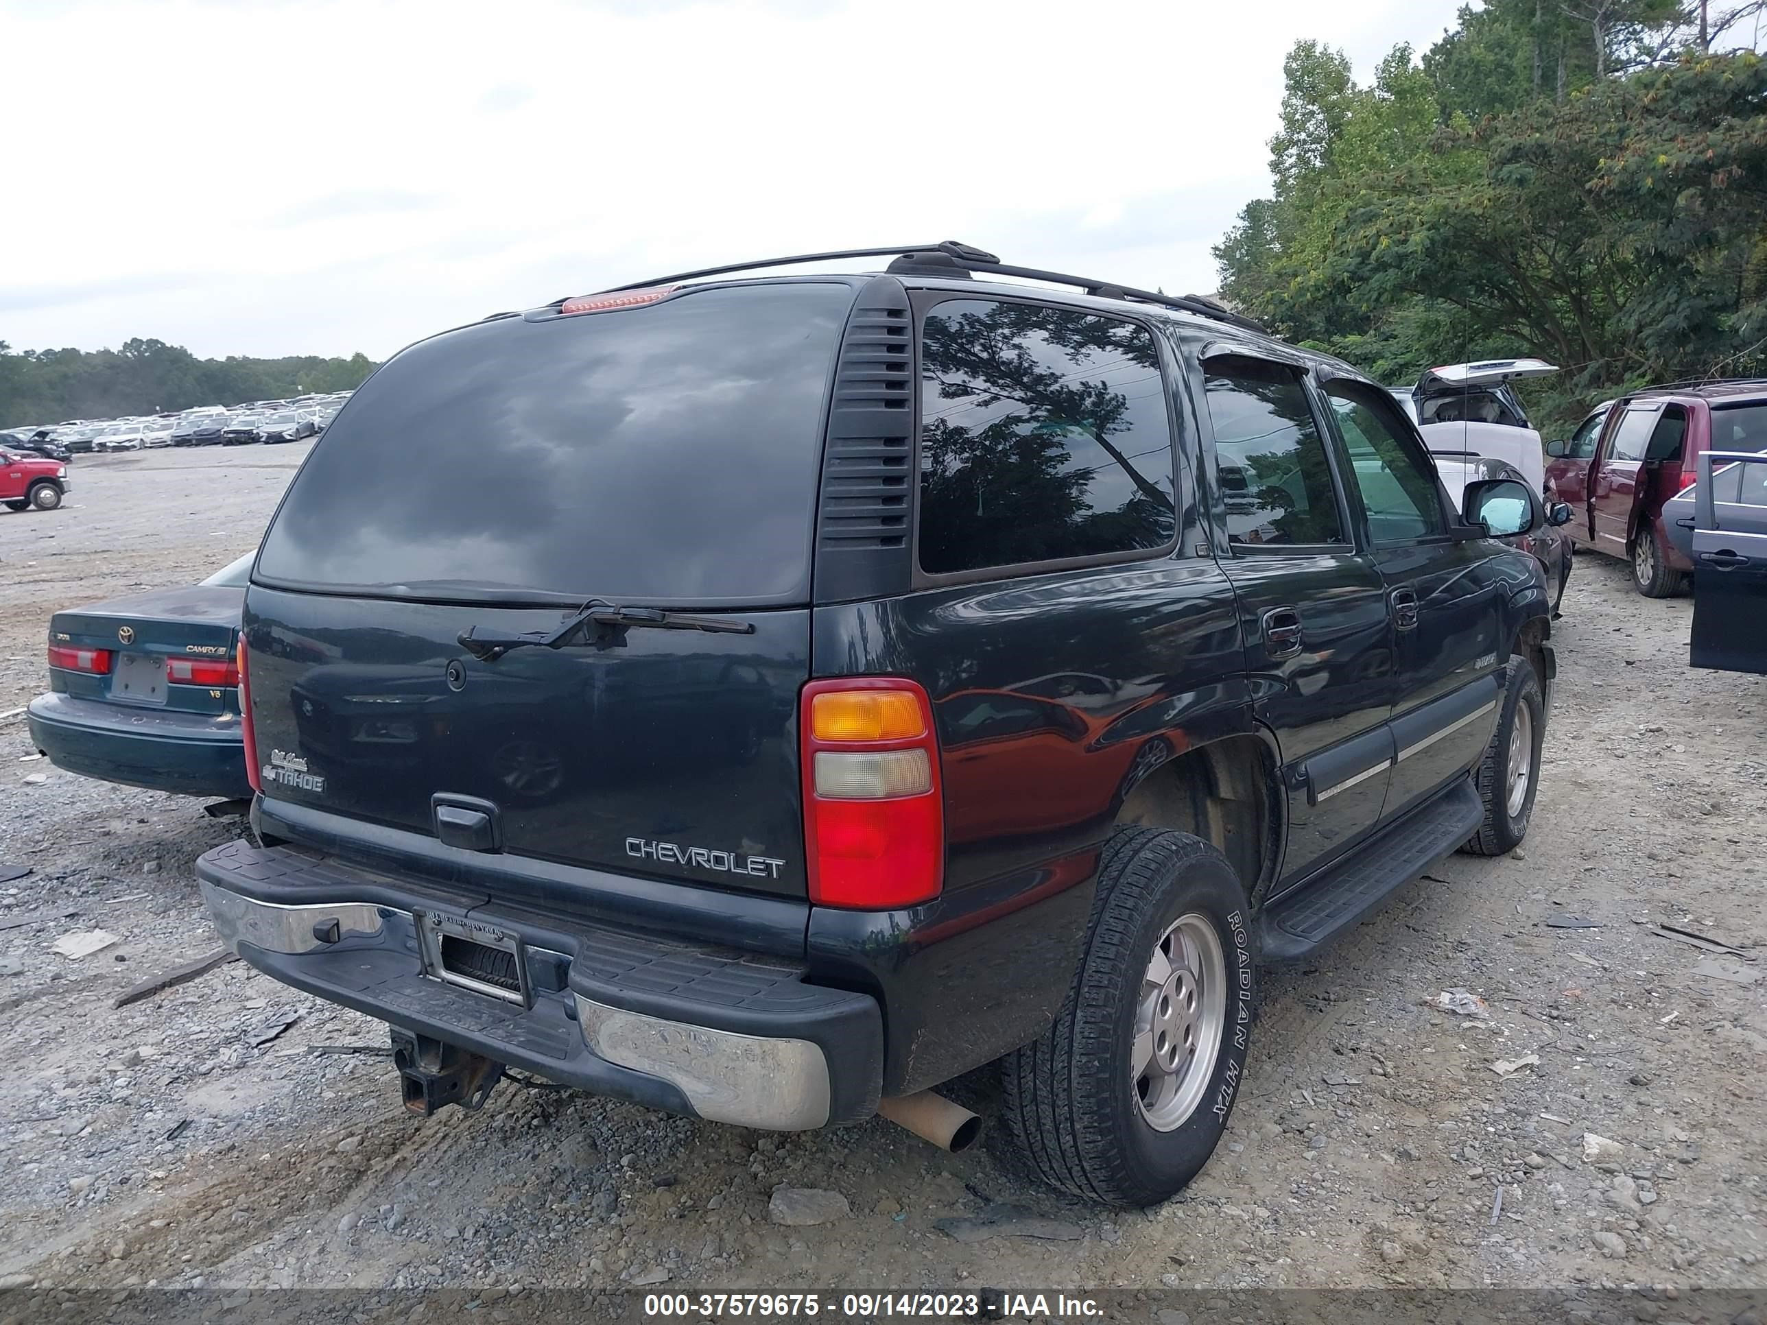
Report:
[[[961,238],[1170,293],[1283,55],[1460,0],[0,0],[0,341],[364,353],[717,261]]]

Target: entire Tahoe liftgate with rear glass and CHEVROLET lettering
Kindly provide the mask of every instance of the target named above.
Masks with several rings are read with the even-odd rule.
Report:
[[[380,369],[247,592],[263,795],[802,897],[797,694],[852,300],[781,281],[542,311]]]

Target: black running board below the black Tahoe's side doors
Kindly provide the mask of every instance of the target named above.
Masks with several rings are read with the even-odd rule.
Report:
[[[1348,860],[1270,903],[1258,917],[1263,959],[1301,961],[1313,956],[1437,860],[1452,855],[1481,823],[1484,802],[1472,777],[1461,777],[1422,809],[1362,843]]]

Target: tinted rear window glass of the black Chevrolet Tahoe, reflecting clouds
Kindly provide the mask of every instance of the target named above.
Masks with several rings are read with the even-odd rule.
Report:
[[[325,431],[256,578],[433,601],[806,602],[852,302],[834,283],[733,286],[422,341]]]

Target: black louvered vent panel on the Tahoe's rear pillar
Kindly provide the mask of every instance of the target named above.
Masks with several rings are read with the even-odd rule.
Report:
[[[914,313],[899,281],[876,277],[848,318],[834,375],[816,521],[818,599],[905,583],[912,484]]]

